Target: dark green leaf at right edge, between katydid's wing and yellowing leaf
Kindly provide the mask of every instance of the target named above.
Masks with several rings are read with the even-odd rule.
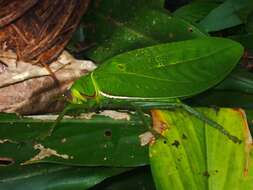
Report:
[[[187,104],[253,108],[253,74],[237,67],[215,88],[188,99]]]

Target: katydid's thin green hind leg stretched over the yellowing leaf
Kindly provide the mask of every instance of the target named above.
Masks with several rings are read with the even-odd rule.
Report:
[[[198,112],[195,109],[193,109],[192,107],[190,107],[190,106],[188,106],[186,104],[183,104],[181,102],[135,102],[135,106],[142,107],[143,109],[154,109],[154,108],[158,108],[158,109],[174,109],[174,108],[182,108],[185,111],[187,111],[188,113],[190,113],[190,114],[194,115],[195,117],[197,117],[198,119],[200,119],[201,121],[209,124],[211,127],[219,130],[222,134],[224,134],[225,136],[227,136],[233,142],[235,142],[235,143],[241,143],[241,140],[238,137],[230,134],[223,126],[221,126],[217,122],[209,119],[203,113]]]

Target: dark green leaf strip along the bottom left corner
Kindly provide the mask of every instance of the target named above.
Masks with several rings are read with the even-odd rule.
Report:
[[[85,190],[128,170],[131,169],[52,164],[10,166],[0,170],[0,189]]]

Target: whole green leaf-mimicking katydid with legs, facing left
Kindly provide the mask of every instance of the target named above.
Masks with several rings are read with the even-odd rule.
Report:
[[[133,50],[105,61],[70,89],[65,111],[181,107],[225,134],[240,140],[180,100],[201,93],[227,76],[243,47],[232,40],[205,37]],[[53,130],[53,128],[52,128]]]

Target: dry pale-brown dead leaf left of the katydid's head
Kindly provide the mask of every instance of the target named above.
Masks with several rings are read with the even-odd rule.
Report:
[[[0,73],[0,112],[23,115],[59,111],[64,105],[61,95],[73,81],[96,68],[91,61],[77,60],[65,51],[50,65],[56,83],[45,68],[17,61],[11,52],[8,56],[0,52],[4,68]]]

